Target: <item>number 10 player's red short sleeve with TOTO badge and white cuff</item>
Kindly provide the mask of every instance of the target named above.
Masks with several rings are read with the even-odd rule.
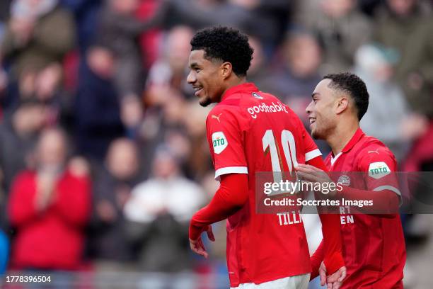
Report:
[[[206,128],[215,179],[223,174],[248,174],[243,130],[236,110],[216,106],[207,116]]]

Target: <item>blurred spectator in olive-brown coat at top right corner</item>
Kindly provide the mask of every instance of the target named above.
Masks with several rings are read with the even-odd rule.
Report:
[[[424,1],[388,0],[376,13],[375,38],[400,58],[395,79],[412,109],[433,117],[433,18]]]

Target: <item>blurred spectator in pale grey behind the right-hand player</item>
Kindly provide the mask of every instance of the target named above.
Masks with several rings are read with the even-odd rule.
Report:
[[[363,45],[355,55],[354,73],[369,88],[369,109],[360,122],[362,130],[379,138],[397,160],[402,160],[410,140],[410,136],[404,135],[403,125],[409,122],[408,127],[412,130],[419,127],[414,126],[412,118],[408,117],[410,111],[403,91],[391,79],[395,62],[392,57],[392,52],[384,47]]]

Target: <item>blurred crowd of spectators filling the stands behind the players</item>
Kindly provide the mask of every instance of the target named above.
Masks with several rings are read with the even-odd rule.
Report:
[[[187,239],[190,217],[218,186],[209,108],[185,80],[190,39],[207,26],[247,33],[255,50],[248,80],[304,121],[324,74],[357,73],[370,94],[362,129],[393,150],[400,171],[432,171],[432,3],[0,1],[8,266],[219,270],[192,256]],[[212,250],[224,264],[224,248]]]

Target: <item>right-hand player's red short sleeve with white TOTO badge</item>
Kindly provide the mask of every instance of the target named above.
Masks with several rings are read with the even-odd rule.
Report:
[[[396,176],[397,162],[386,147],[367,147],[359,154],[359,171],[366,173],[369,191],[389,190],[401,197]]]

